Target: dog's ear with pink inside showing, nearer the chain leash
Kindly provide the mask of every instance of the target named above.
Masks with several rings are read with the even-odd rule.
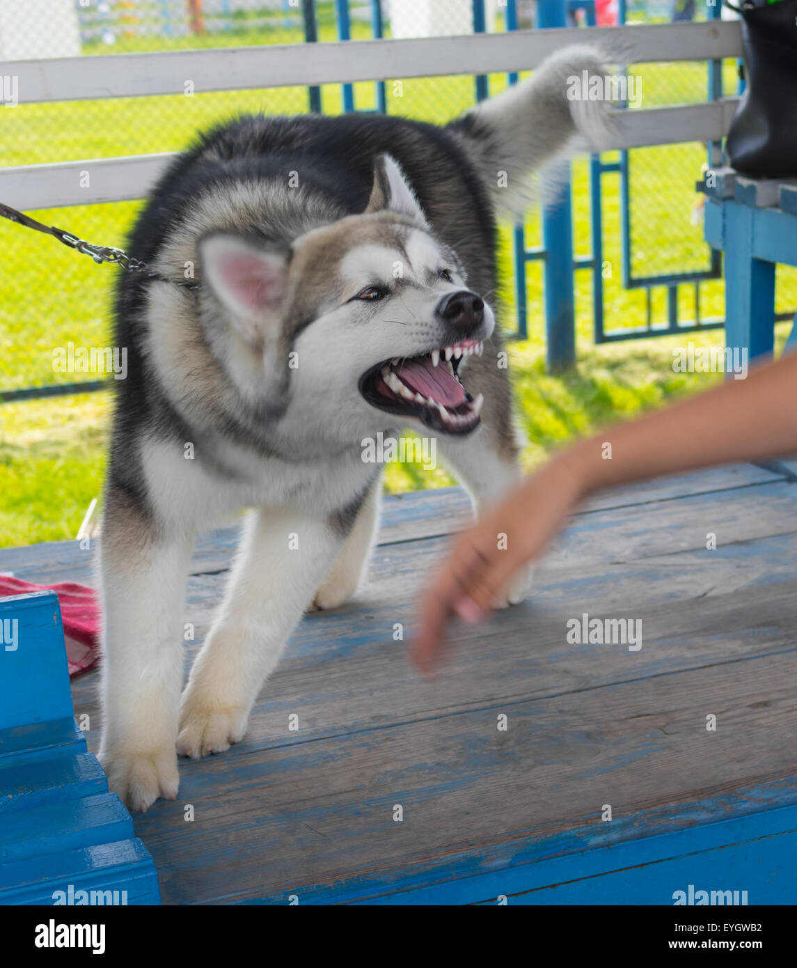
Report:
[[[288,254],[267,252],[238,235],[206,235],[199,242],[202,278],[245,339],[262,343],[280,320]]]

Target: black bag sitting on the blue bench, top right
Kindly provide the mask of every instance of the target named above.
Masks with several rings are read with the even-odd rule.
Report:
[[[728,132],[728,163],[753,178],[797,176],[797,0],[734,7],[747,86]]]

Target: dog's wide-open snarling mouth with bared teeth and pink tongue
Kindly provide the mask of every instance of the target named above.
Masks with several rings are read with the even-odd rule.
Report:
[[[395,357],[360,379],[369,404],[388,413],[418,417],[445,434],[469,434],[479,425],[484,398],[474,400],[459,381],[463,359],[481,356],[481,340],[462,340],[420,356]]]

